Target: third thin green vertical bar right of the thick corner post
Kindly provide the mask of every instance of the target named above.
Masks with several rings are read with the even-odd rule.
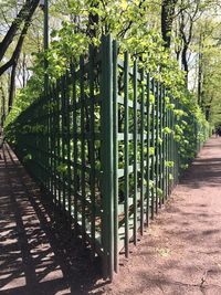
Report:
[[[134,62],[134,244],[137,244],[137,61]]]

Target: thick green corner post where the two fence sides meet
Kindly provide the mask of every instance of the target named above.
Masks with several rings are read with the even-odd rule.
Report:
[[[114,273],[114,190],[113,190],[113,42],[110,35],[102,38],[102,198],[104,275]]]

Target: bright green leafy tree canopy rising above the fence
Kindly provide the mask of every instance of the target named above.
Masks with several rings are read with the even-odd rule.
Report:
[[[218,0],[51,0],[46,52],[39,2],[0,4],[1,116],[11,107],[17,113],[39,96],[45,59],[48,74],[55,80],[88,44],[98,45],[102,34],[112,33],[122,52],[139,54],[147,70],[177,96],[188,87],[208,119],[219,124]]]

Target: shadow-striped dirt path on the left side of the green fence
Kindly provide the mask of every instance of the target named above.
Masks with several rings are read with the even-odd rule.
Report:
[[[0,294],[88,294],[101,278],[99,261],[92,260],[91,252],[70,232],[50,199],[4,148],[4,161],[0,161]]]

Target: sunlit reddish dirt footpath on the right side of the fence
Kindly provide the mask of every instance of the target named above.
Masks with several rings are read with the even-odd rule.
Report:
[[[99,291],[221,295],[220,138],[206,144],[114,283]]]

